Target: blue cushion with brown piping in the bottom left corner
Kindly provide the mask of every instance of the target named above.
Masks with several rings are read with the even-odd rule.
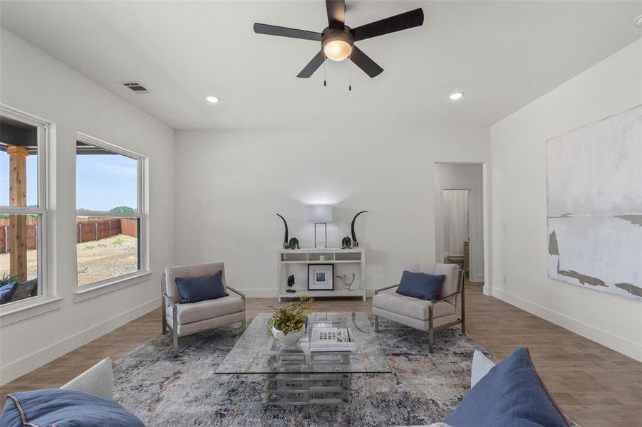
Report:
[[[76,390],[41,389],[9,394],[0,426],[144,427],[116,401]]]

